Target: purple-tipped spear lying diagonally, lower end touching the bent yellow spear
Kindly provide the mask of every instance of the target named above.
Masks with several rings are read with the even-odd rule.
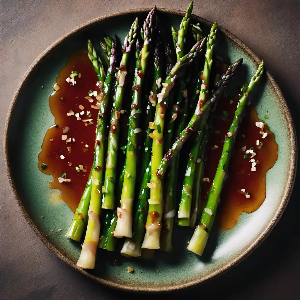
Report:
[[[235,64],[240,64],[243,61],[240,58]],[[200,100],[199,103],[196,105],[196,110],[190,119],[187,127],[180,133],[178,139],[173,143],[171,149],[164,155],[160,165],[158,166],[156,175],[159,179],[162,178],[168,166],[170,165],[172,159],[179,153],[182,145],[185,143],[187,138],[191,135],[193,131],[196,130],[198,122],[202,119],[202,116],[206,110],[208,110],[213,103],[215,103],[221,96],[222,92],[225,90],[226,86],[228,85],[230,79],[234,76],[236,68],[228,68],[227,72],[222,76],[220,79],[219,87],[213,92],[211,98],[206,101],[205,104]]]

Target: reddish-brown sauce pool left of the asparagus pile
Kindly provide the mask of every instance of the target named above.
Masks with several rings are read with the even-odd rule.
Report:
[[[66,79],[75,70],[77,73],[81,73],[81,77],[75,76],[76,84],[70,85]],[[88,96],[89,90],[99,91],[99,87],[96,85],[98,78],[85,51],[77,52],[67,60],[66,65],[60,70],[56,82],[60,89],[50,96],[49,107],[55,117],[55,125],[58,127],[53,126],[46,132],[42,152],[38,155],[39,168],[41,170],[42,162],[47,165],[43,172],[53,177],[53,181],[49,183],[50,188],[60,189],[62,191],[61,199],[72,211],[75,211],[93,164],[98,116],[98,109],[91,108],[92,104],[96,105],[96,98],[92,96],[93,103],[85,98]],[[82,105],[84,109],[81,110],[79,105]],[[67,116],[70,110],[73,110],[74,113],[84,111],[82,116],[79,115],[81,120],[78,121],[76,116]],[[91,117],[86,115],[87,111],[91,112]],[[91,122],[94,124],[85,126],[85,122],[82,122],[83,119],[93,119]],[[65,126],[70,128],[66,133],[67,138],[75,139],[74,142],[66,143],[66,140],[61,139]],[[71,147],[71,152],[67,147]],[[61,155],[64,155],[64,159],[61,159]],[[69,166],[69,163],[72,165]],[[75,167],[78,167],[79,164],[87,171],[77,172]],[[66,173],[67,179],[71,179],[70,182],[58,182],[58,177],[61,177],[63,173]]]

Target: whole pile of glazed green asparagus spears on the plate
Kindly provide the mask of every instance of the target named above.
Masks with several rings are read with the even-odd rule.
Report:
[[[125,38],[119,68],[116,68],[118,52],[116,36],[113,39],[105,37],[104,41],[100,42],[102,55],[99,55],[91,41],[88,41],[88,57],[97,73],[101,88],[97,96],[100,110],[95,138],[95,157],[84,193],[66,234],[66,236],[80,241],[86,228],[81,255],[77,262],[77,265],[82,268],[94,268],[98,246],[113,251],[116,238],[126,237],[121,250],[122,255],[125,256],[141,256],[142,248],[172,250],[172,232],[176,216],[176,189],[180,184],[178,176],[176,176],[179,166],[178,154],[193,132],[196,135],[187,160],[182,184],[178,224],[196,226],[200,209],[205,149],[209,138],[209,111],[212,105],[216,106],[228,83],[232,81],[238,66],[242,64],[242,59],[230,65],[214,84],[214,88],[210,90],[210,73],[218,26],[215,22],[208,36],[203,37],[200,24],[190,24],[192,9],[193,2],[190,2],[178,32],[172,26],[174,49],[170,46],[172,43],[168,41],[163,26],[156,16],[156,6],[149,12],[141,30],[138,29],[138,20],[136,19]],[[141,37],[139,37],[139,32],[141,32]],[[187,41],[190,43],[189,32],[196,44],[187,52],[185,48],[188,45]],[[143,43],[140,38],[143,39]],[[205,46],[205,60],[202,69],[200,68],[200,54],[204,52]],[[174,52],[176,52],[177,58],[175,65],[173,62]],[[119,183],[116,184],[119,119],[125,118],[125,115],[122,115],[122,102],[125,85],[130,84],[128,82],[128,78],[130,78],[128,66],[132,59],[131,56],[133,56],[131,53],[135,53],[136,68],[132,84],[127,145],[122,148],[126,149],[126,158]],[[105,72],[101,56],[107,64],[107,72]],[[153,67],[148,69],[148,66],[151,65]],[[115,74],[116,69],[118,72]],[[147,73],[148,70],[152,71]],[[145,76],[146,73],[148,77]],[[165,78],[164,74],[166,74]],[[263,63],[259,65],[255,76],[243,91],[235,118],[224,142],[222,156],[207,204],[188,245],[188,249],[198,255],[202,254],[211,231],[232,145],[247,97],[259,82],[262,74]],[[143,83],[145,80],[147,82],[149,78],[153,78],[153,85],[150,91],[145,91]],[[113,82],[115,82],[113,109],[107,138],[107,107]],[[143,95],[143,91],[146,95]],[[176,91],[178,92],[176,93]],[[143,99],[148,99],[148,103],[143,104]],[[143,111],[143,107],[145,111]],[[187,122],[187,118],[190,116],[190,107],[193,107],[194,113]],[[141,118],[144,118],[144,123],[147,123],[147,128],[144,130]],[[143,132],[146,134],[145,137],[143,137]],[[106,138],[108,149],[104,166]],[[139,144],[143,145],[140,167],[138,167]],[[166,152],[165,155],[164,152]],[[164,175],[170,165],[164,181]],[[140,180],[138,180],[138,174],[141,174]],[[164,188],[166,188],[165,191]],[[117,208],[116,205],[120,207]],[[102,233],[101,207],[105,209]]]

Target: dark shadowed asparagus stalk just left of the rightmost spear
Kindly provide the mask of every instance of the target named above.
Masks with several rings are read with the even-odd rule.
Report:
[[[192,191],[192,207],[191,207],[191,215],[190,215],[190,227],[195,228],[198,217],[199,208],[201,205],[201,184],[202,184],[202,176],[204,172],[205,166],[205,154],[206,154],[206,146],[208,143],[208,138],[210,135],[210,130],[208,129],[208,125],[206,125],[202,140],[199,147],[198,158],[196,160],[196,170],[193,182],[193,191]]]

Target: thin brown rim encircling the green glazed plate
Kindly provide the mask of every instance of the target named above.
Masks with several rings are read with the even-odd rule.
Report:
[[[128,286],[125,284],[119,284],[119,283],[114,283],[110,280],[105,280],[102,279],[98,276],[95,276],[93,274],[91,274],[90,272],[86,271],[85,269],[79,268],[76,263],[72,262],[67,256],[65,256],[63,253],[61,253],[54,244],[52,244],[43,234],[43,232],[41,232],[38,227],[35,225],[35,223],[33,222],[33,220],[29,217],[29,214],[26,211],[26,208],[24,207],[24,205],[22,204],[22,199],[19,196],[17,189],[16,189],[16,185],[15,182],[13,180],[12,177],[12,173],[10,170],[10,163],[9,163],[9,158],[8,158],[8,151],[7,151],[7,146],[8,146],[8,131],[9,131],[9,126],[10,126],[10,120],[12,117],[12,113],[16,104],[16,101],[19,97],[20,91],[23,88],[23,85],[25,84],[26,80],[28,79],[28,77],[31,75],[31,73],[33,72],[33,70],[35,69],[35,67],[43,60],[43,58],[49,53],[51,52],[56,46],[58,46],[62,41],[66,40],[67,38],[69,38],[70,36],[72,36],[73,34],[81,31],[82,29],[85,29],[86,27],[96,23],[96,22],[101,22],[104,21],[106,19],[111,19],[113,17],[118,17],[118,16],[124,16],[127,14],[131,14],[131,13],[147,13],[149,12],[151,8],[137,8],[137,9],[128,9],[128,10],[122,10],[122,11],[118,11],[118,12],[114,12],[114,13],[109,13],[106,14],[104,16],[100,16],[94,19],[91,19],[90,21],[87,21],[85,23],[82,23],[81,25],[77,26],[76,28],[74,28],[73,30],[71,30],[70,32],[68,32],[66,35],[63,35],[61,38],[59,38],[57,41],[55,41],[54,43],[52,43],[48,48],[46,48],[46,50],[44,50],[44,52],[42,52],[36,59],[35,61],[31,64],[31,66],[29,67],[29,69],[26,71],[25,75],[22,77],[18,87],[16,88],[16,91],[13,95],[13,99],[10,103],[10,107],[8,109],[8,113],[7,113],[7,118],[5,121],[5,128],[4,128],[4,161],[5,161],[5,169],[6,169],[6,173],[7,173],[7,177],[10,183],[10,187],[11,190],[14,194],[14,197],[16,199],[16,202],[19,206],[19,209],[21,210],[23,216],[25,217],[27,223],[29,223],[30,227],[32,228],[32,230],[35,232],[35,234],[41,239],[41,241],[56,255],[58,256],[58,258],[60,258],[63,262],[65,262],[67,265],[69,265],[70,267],[76,269],[77,271],[79,271],[81,274],[84,274],[85,276],[91,278],[92,280],[103,284],[104,286],[108,286],[114,289],[119,289],[119,290],[127,290],[127,291],[131,291],[131,292],[170,292],[173,290],[178,290],[178,289],[184,289],[186,287],[190,287],[190,286],[194,286],[196,284],[202,283],[208,279],[211,279],[217,275],[222,274],[223,272],[229,270],[230,268],[232,268],[234,265],[238,264],[239,262],[241,262],[244,258],[246,258],[248,255],[250,255],[255,249],[256,247],[267,237],[267,235],[271,232],[271,230],[274,228],[274,226],[276,225],[276,223],[278,222],[278,220],[280,219],[281,215],[283,214],[283,211],[286,208],[287,203],[289,202],[289,197],[291,195],[292,189],[293,189],[293,185],[295,182],[295,175],[296,175],[296,165],[297,165],[297,137],[295,134],[295,125],[292,119],[292,115],[290,113],[289,107],[287,106],[286,100],[282,95],[282,92],[280,90],[280,88],[278,87],[277,83],[275,82],[274,78],[272,77],[272,75],[267,71],[266,72],[266,76],[267,79],[270,81],[272,87],[274,88],[279,101],[283,107],[283,113],[286,115],[287,117],[287,122],[288,122],[288,128],[289,128],[289,133],[291,136],[291,167],[289,170],[289,174],[288,174],[288,179],[286,181],[285,184],[285,188],[284,188],[284,193],[283,193],[283,197],[282,200],[277,208],[276,214],[274,214],[273,218],[268,222],[268,225],[265,227],[265,229],[259,234],[259,236],[255,239],[255,241],[252,242],[252,244],[250,244],[243,252],[241,252],[238,256],[236,256],[234,259],[231,259],[229,262],[227,262],[225,265],[223,265],[222,267],[218,268],[217,270],[215,270],[214,272],[206,275],[206,276],[202,276],[199,277],[198,279],[195,280],[191,280],[189,282],[186,283],[178,283],[175,285],[170,285],[170,286],[158,286],[158,287],[141,287],[141,286]],[[182,10],[176,10],[176,9],[169,9],[169,8],[157,8],[158,11],[160,12],[164,12],[164,13],[171,13],[177,16],[184,16],[185,15],[185,11]],[[201,23],[204,23],[207,26],[211,26],[212,22],[201,18],[199,16],[196,16],[194,14],[192,14],[192,19],[196,19],[197,21],[200,21]],[[229,38],[231,41],[233,41],[235,44],[237,44],[244,52],[246,52],[257,64],[261,62],[261,59],[259,59],[259,57],[244,43],[242,42],[239,38],[237,38],[235,35],[233,35],[232,33],[230,33],[229,31],[227,31],[226,29],[224,29],[223,27],[219,26],[219,30],[227,37]]]

